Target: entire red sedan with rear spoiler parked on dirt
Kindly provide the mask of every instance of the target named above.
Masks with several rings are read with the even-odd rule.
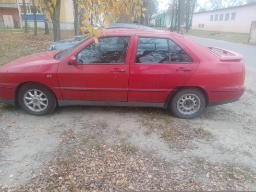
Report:
[[[205,48],[177,33],[105,29],[72,48],[29,55],[0,67],[0,102],[32,115],[56,106],[171,109],[192,119],[206,106],[244,94],[243,56]]]

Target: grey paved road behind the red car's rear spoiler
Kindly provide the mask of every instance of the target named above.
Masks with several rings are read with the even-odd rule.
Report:
[[[256,72],[256,46],[242,43],[232,43],[198,36],[186,35],[186,37],[205,47],[219,47],[240,53],[244,55],[245,68],[247,70]]]

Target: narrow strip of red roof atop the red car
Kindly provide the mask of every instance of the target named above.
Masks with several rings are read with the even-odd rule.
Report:
[[[151,30],[151,29],[127,29],[127,28],[114,28],[107,29],[103,28],[104,33],[131,33],[131,34],[154,34],[154,35],[171,35],[171,36],[183,36],[181,34],[171,31]],[[101,32],[102,33],[102,32]]]

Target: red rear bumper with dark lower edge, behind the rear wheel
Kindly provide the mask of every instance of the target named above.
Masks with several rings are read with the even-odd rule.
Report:
[[[238,101],[244,95],[245,86],[207,87],[206,91],[209,97],[208,106],[215,106]]]

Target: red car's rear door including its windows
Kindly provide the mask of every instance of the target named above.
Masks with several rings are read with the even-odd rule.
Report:
[[[188,82],[198,65],[195,55],[170,35],[136,34],[128,101],[164,103],[173,88]]]

